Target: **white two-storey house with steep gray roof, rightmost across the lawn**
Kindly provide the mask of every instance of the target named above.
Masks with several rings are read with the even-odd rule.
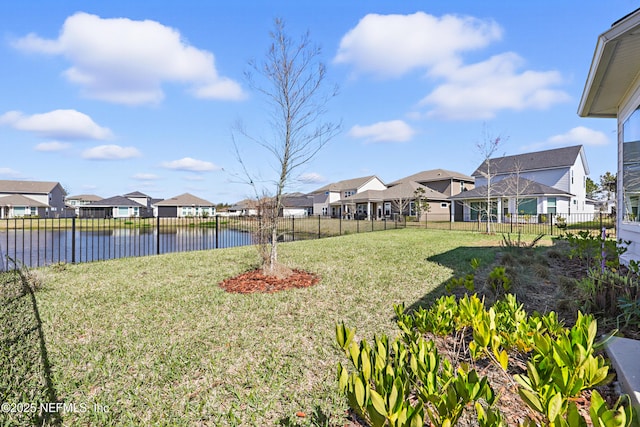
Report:
[[[518,217],[519,221],[538,221],[549,218],[549,214],[593,214],[594,206],[586,194],[588,174],[581,145],[492,158],[472,174],[472,191],[450,199],[464,202],[464,221],[486,220],[487,195],[491,216],[497,222]],[[454,218],[459,216],[454,212]]]

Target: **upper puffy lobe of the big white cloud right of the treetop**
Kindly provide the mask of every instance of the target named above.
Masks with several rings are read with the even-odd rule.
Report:
[[[502,29],[494,21],[469,16],[369,14],[342,38],[334,62],[352,64],[357,71],[400,76],[458,62],[460,53],[501,37]]]

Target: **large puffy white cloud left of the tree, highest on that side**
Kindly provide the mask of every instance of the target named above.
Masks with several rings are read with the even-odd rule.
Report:
[[[164,97],[163,83],[187,84],[202,98],[244,98],[237,82],[218,75],[211,52],[189,45],[179,31],[156,21],[103,19],[79,12],[65,20],[57,39],[29,34],[13,46],[64,56],[71,63],[67,79],[94,99],[158,103]]]

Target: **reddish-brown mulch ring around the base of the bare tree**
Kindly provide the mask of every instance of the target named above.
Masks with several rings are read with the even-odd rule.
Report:
[[[313,273],[302,270],[291,270],[287,277],[267,276],[262,270],[252,270],[231,277],[220,283],[220,287],[227,292],[239,294],[273,293],[293,288],[307,288],[314,286],[320,278]]]

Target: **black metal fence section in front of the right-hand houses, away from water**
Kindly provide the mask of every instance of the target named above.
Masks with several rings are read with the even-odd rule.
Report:
[[[559,236],[567,232],[577,233],[579,231],[601,233],[602,227],[604,227],[610,237],[615,237],[615,225],[615,215],[601,212],[589,214],[505,215],[499,219],[493,218],[490,222],[487,222],[486,219],[456,222],[429,221],[428,215],[424,221],[420,222],[407,219],[408,227],[498,234],[545,234],[551,236]]]

